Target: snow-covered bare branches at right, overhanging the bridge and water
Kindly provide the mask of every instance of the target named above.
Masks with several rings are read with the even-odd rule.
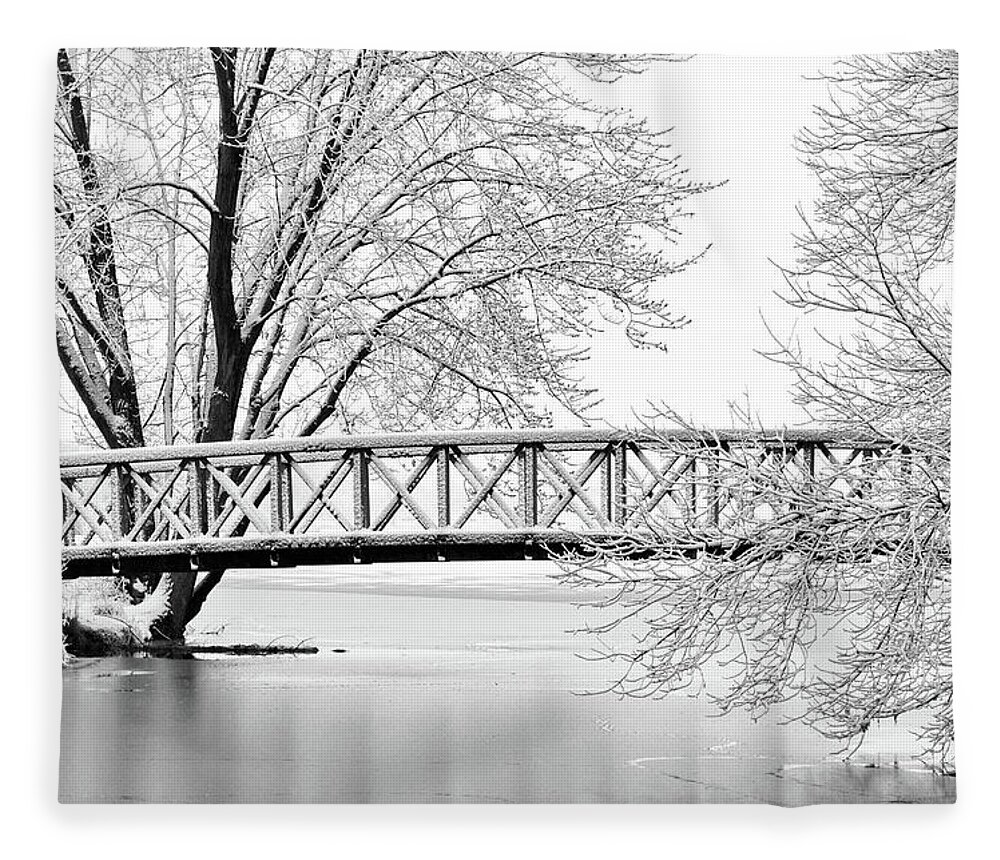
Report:
[[[625,665],[619,692],[689,688],[721,663],[723,711],[803,701],[802,717],[845,748],[913,713],[948,769],[957,57],[855,57],[827,79],[832,104],[798,140],[821,193],[797,265],[780,269],[818,337],[771,355],[848,453],[817,464],[814,446],[709,436],[712,474],[671,475],[673,495],[715,494],[721,515],[654,508],[566,576],[617,586],[601,632],[636,637],[609,649]],[[690,454],[669,434],[662,444],[674,462]]]

